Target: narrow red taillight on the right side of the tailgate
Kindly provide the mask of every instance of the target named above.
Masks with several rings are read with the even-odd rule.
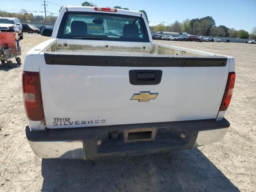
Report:
[[[235,80],[236,80],[236,73],[235,72],[230,72],[228,74],[228,81],[227,81],[225,92],[224,92],[222,102],[221,102],[221,105],[220,105],[220,111],[227,110],[227,108],[230,104],[232,94],[233,94],[233,89],[234,89],[234,86],[235,86]]]

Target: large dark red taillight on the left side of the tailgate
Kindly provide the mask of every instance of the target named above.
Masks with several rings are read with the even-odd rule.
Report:
[[[40,121],[44,118],[39,72],[22,73],[23,100],[28,119]]]

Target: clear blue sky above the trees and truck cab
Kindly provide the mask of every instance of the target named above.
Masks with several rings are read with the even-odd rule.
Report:
[[[46,11],[58,13],[58,5],[80,6],[84,0],[49,0],[46,2]],[[256,26],[256,0],[89,0],[102,7],[121,6],[130,10],[145,10],[150,20],[150,25],[159,22],[171,24],[175,20],[182,22],[185,19],[202,18],[212,16],[216,25],[224,25],[236,30],[244,29],[251,32]],[[54,4],[52,4],[54,3]],[[8,12],[18,12],[18,10],[38,10],[44,11],[42,0],[0,0],[0,10]],[[58,4],[58,5],[56,5]],[[32,12],[34,15],[44,15],[42,12]],[[50,15],[50,13],[47,13]]]

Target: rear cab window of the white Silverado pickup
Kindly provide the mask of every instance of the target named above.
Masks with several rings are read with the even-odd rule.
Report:
[[[66,12],[57,38],[150,42],[142,17],[94,12]]]

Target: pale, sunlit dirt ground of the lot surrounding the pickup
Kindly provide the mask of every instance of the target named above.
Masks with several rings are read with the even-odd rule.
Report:
[[[24,34],[22,62],[30,48],[46,39]],[[256,191],[256,44],[156,42],[236,59],[236,85],[225,116],[231,126],[223,140],[168,154],[41,159],[26,140],[22,64],[0,66],[0,192]]]

